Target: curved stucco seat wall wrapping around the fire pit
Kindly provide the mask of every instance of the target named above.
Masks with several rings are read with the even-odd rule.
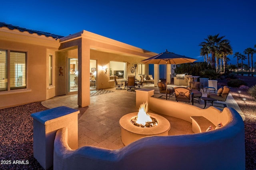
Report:
[[[160,99],[161,102],[155,105],[154,102],[158,100],[151,99],[150,109],[157,109],[168,102]],[[184,120],[204,112],[209,115],[209,120],[211,114],[224,114],[224,117],[216,118],[227,118],[228,122],[224,127],[210,132],[141,138],[118,150],[94,146],[71,150],[67,144],[68,129],[62,128],[57,131],[54,141],[54,169],[245,169],[244,123],[234,109],[225,108],[221,112],[213,107],[199,109],[170,101],[168,104],[168,107],[162,107],[162,114],[177,114],[178,118]],[[188,115],[185,116],[185,111],[176,113],[176,109],[173,109],[177,107],[176,104],[186,105]]]

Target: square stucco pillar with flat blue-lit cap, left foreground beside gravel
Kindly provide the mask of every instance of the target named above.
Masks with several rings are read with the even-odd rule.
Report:
[[[68,146],[78,148],[78,113],[69,107],[56,107],[31,114],[34,123],[34,158],[44,168],[53,165],[54,139],[58,129],[68,128]]]

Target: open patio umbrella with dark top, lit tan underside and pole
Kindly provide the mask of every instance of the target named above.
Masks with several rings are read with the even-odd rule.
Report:
[[[166,100],[167,100],[167,64],[182,64],[182,63],[192,63],[196,61],[194,58],[186,57],[184,55],[179,55],[166,51],[160,53],[154,57],[144,59],[141,62],[145,64],[166,64]]]

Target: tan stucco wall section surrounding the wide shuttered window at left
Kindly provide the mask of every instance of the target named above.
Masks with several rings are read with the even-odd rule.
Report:
[[[7,39],[6,36],[8,37]],[[12,36],[16,36],[16,38],[12,38]],[[12,36],[0,32],[0,49],[26,52],[27,88],[12,91],[0,91],[0,108],[43,101],[47,97],[50,98],[55,96],[54,89],[46,89],[49,83],[47,79],[48,55],[50,53],[56,55],[56,44],[54,45],[55,47],[45,46],[45,43],[40,43],[40,38],[38,38],[38,36]],[[18,39],[24,39],[24,41],[19,42]],[[38,42],[34,43],[35,41]],[[51,43],[50,40],[49,45],[51,45]],[[51,50],[48,50],[48,48],[51,48]]]

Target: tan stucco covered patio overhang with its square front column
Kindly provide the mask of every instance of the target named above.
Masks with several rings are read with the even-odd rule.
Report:
[[[80,107],[90,105],[90,81],[88,80],[90,79],[89,68],[92,51],[112,53],[124,58],[132,57],[135,63],[156,55],[156,53],[85,30],[60,38],[59,50],[68,51],[70,49],[78,51],[78,105]]]

